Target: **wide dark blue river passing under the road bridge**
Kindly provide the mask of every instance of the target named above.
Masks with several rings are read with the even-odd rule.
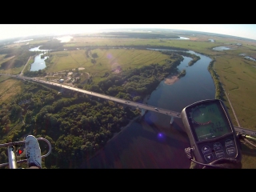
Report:
[[[213,79],[207,67],[211,59],[201,57],[193,66],[192,58],[183,57],[178,70],[186,69],[186,75],[172,85],[160,82],[150,95],[148,104],[181,112],[193,102],[212,99],[215,95]],[[140,122],[133,122],[119,132],[106,146],[83,162],[86,169],[188,169],[190,160],[185,148],[190,146],[181,118],[174,118],[148,111]]]

